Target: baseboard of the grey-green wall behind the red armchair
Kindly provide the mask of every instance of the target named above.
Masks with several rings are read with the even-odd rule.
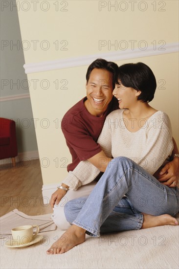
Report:
[[[15,157],[16,163],[23,163],[25,161],[32,161],[32,160],[36,160],[39,159],[39,153],[38,151],[26,151],[26,152],[20,152],[18,153],[18,156]],[[2,159],[0,160],[0,165],[5,165],[5,164],[12,164],[12,160],[11,158],[6,158],[6,159]]]

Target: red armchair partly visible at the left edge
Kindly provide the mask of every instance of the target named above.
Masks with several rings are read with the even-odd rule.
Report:
[[[18,155],[15,121],[0,118],[0,159],[12,158],[13,167],[16,166],[15,157]]]

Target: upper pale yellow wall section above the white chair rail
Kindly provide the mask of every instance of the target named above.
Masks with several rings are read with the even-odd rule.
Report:
[[[27,40],[30,43],[29,49],[24,51],[26,63],[108,52],[108,46],[99,50],[99,40],[111,41],[111,43],[117,40],[117,44],[125,40],[129,43],[129,48],[131,47],[130,40],[136,40],[135,47],[141,40],[145,40],[148,46],[154,45],[152,44],[154,41],[156,44],[161,40],[166,43],[178,41],[179,3],[176,0],[137,1],[134,4],[134,11],[132,11],[132,3],[128,0],[123,1],[126,4],[120,4],[122,1],[59,0],[58,11],[55,11],[56,5],[54,5],[57,1],[50,0],[48,1],[49,10],[46,12],[41,9],[46,8],[45,4],[40,8],[40,3],[43,2],[44,0],[39,1],[36,11],[33,10],[30,0],[29,11],[23,11],[20,5],[19,19],[22,40]],[[66,2],[67,7],[65,7]],[[99,11],[101,2],[106,4],[117,2],[117,11],[112,7],[111,11],[108,11],[110,5],[101,7],[101,11]],[[139,10],[139,8],[145,8],[142,2],[147,4],[146,11]],[[156,2],[156,11],[154,11],[153,2]],[[120,9],[125,9],[127,4],[128,9],[120,11]],[[164,4],[166,5],[164,6]],[[25,9],[25,5],[23,8]],[[63,11],[63,9],[67,9],[67,11]],[[34,50],[32,40],[39,41],[36,50]],[[45,40],[50,45],[48,50],[41,48],[43,45],[45,48],[45,43],[43,43]],[[58,50],[56,50],[56,45],[53,44],[57,40],[59,43]],[[63,40],[68,42],[65,47],[67,50],[60,50],[66,45],[65,42],[60,44]],[[24,43],[24,47],[26,45]],[[162,45],[162,43],[159,45]],[[111,50],[114,49],[114,47],[111,47]]]

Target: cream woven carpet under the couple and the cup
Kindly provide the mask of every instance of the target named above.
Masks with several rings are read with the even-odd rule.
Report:
[[[179,220],[179,215],[178,215]],[[1,239],[1,269],[178,269],[179,226],[87,236],[86,242],[61,255],[45,251],[63,234],[41,233],[42,242],[24,248],[5,247]]]

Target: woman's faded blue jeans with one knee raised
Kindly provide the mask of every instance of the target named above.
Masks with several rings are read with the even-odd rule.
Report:
[[[100,231],[140,229],[141,212],[158,216],[178,211],[179,188],[163,185],[127,157],[110,162],[89,197],[71,200],[65,207],[67,221],[94,237]]]

